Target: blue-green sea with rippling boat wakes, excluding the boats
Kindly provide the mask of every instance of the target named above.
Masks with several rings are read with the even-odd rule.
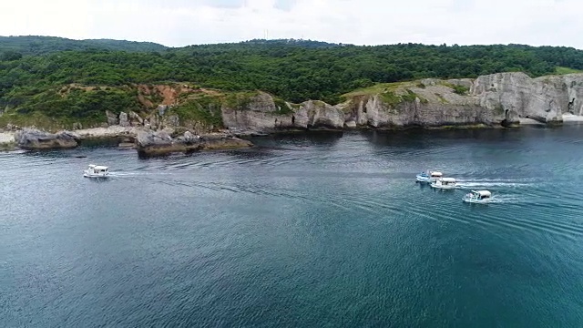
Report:
[[[252,141],[0,153],[0,326],[583,326],[583,126]]]

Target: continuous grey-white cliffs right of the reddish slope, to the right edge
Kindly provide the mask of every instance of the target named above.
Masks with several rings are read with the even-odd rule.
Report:
[[[500,73],[476,79],[427,78],[381,84],[346,94],[330,106],[299,105],[261,94],[247,108],[222,108],[225,128],[270,132],[284,128],[514,126],[522,118],[560,123],[583,115],[583,74],[530,78]]]

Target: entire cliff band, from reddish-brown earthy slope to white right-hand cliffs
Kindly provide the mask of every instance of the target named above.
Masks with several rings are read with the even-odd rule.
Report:
[[[230,92],[178,83],[138,85],[137,90],[141,108],[105,110],[101,122],[83,127],[178,128],[195,134],[226,128],[231,134],[253,134],[315,128],[499,127],[527,118],[548,124],[560,123],[568,114],[569,120],[583,117],[583,74],[531,78],[524,73],[499,73],[476,79],[378,84],[343,95],[344,101],[335,106],[319,100],[291,104],[261,91]],[[73,125],[79,128],[80,123]]]

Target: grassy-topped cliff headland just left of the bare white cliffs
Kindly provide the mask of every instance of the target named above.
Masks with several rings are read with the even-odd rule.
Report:
[[[436,79],[387,84],[349,94],[343,110],[347,122],[372,128],[492,126],[508,121],[500,108],[480,106],[478,97],[465,95],[471,84]]]

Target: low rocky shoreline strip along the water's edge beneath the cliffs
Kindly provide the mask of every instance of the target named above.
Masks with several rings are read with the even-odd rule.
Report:
[[[565,115],[564,123],[583,122],[583,116]],[[521,118],[515,127],[545,125],[532,118]],[[344,131],[354,129],[469,129],[469,128],[503,128],[484,124],[459,125],[459,126],[434,126],[434,127],[394,127],[394,128],[282,128],[278,130],[254,130],[254,129],[227,129],[222,132],[195,135],[189,130],[177,134],[174,128],[151,130],[143,127],[110,126],[107,128],[83,128],[64,130],[56,133],[46,132],[37,128],[17,128],[0,132],[0,151],[43,150],[43,149],[74,149],[86,142],[101,142],[113,140],[119,149],[136,149],[140,156],[162,156],[170,153],[189,153],[199,150],[218,149],[242,149],[252,147],[249,137],[264,137],[276,133],[304,132],[306,130],[317,131]]]

